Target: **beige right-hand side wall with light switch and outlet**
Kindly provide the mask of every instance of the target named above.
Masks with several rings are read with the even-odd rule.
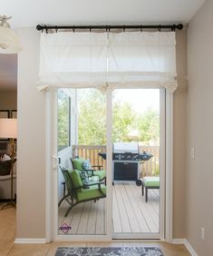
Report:
[[[199,256],[213,251],[213,1],[208,0],[189,22],[186,238]],[[190,147],[195,158],[189,157]],[[200,229],[206,230],[205,240]]]

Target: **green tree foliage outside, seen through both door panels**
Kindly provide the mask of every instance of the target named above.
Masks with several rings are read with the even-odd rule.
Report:
[[[106,144],[105,95],[95,89],[79,94],[78,142],[83,145]],[[137,142],[160,143],[160,114],[151,108],[136,113],[130,103],[113,103],[112,142],[131,142],[130,132],[139,131]]]

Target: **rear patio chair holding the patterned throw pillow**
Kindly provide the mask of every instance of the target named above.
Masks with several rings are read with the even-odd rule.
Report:
[[[99,181],[104,181],[106,185],[106,171],[102,170],[102,165],[91,165],[89,160],[85,160],[79,156],[71,158],[71,162],[74,170],[85,171],[89,176],[98,176]],[[98,170],[95,168],[98,168]]]

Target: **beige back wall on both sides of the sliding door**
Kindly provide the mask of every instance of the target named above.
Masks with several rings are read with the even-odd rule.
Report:
[[[39,33],[19,30],[24,51],[18,56],[17,238],[45,237],[45,95],[36,89]],[[186,31],[177,34],[180,86],[174,95],[173,234],[185,237],[185,104]]]

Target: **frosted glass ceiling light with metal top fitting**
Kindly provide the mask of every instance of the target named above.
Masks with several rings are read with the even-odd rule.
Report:
[[[11,16],[0,15],[0,54],[17,54],[22,50],[17,34],[7,22],[9,19]]]

